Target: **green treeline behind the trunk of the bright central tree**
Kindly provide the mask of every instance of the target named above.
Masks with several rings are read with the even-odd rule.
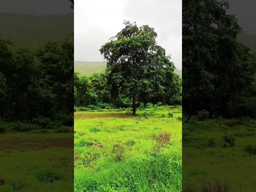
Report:
[[[161,97],[151,100],[139,99],[136,103],[137,108],[152,107],[155,104],[162,105],[182,105],[181,78],[174,74],[173,94],[164,94]],[[166,81],[171,81],[166,79]],[[165,89],[168,90],[167,88]],[[98,109],[116,109],[132,108],[132,98],[124,94],[118,94],[117,97],[111,95],[111,86],[107,82],[105,72],[94,73],[91,76],[74,73],[74,104],[75,110],[98,110]]]

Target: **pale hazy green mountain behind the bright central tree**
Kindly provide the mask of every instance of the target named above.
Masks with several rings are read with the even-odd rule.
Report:
[[[75,61],[74,62],[74,71],[79,72],[83,75],[91,75],[96,72],[102,72],[106,68],[106,61],[102,62],[83,62]],[[176,74],[182,77],[182,70],[175,70]]]

